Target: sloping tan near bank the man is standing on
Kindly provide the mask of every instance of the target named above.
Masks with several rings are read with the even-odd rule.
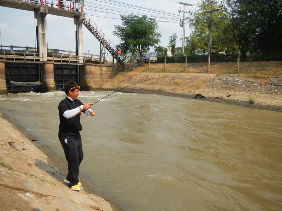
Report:
[[[79,192],[49,164],[50,154],[0,113],[0,210],[108,210],[101,197]],[[46,150],[46,148],[44,149]],[[59,164],[59,163],[58,163]]]

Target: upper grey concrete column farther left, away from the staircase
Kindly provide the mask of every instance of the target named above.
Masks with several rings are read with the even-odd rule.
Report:
[[[37,38],[38,38],[38,50],[40,55],[40,61],[47,61],[47,32],[46,32],[46,15],[48,9],[41,7],[34,11],[34,18],[37,19]]]

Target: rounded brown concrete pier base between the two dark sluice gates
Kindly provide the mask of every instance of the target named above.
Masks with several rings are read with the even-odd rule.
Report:
[[[41,92],[56,91],[56,84],[54,80],[54,62],[48,61],[43,63],[41,79]]]

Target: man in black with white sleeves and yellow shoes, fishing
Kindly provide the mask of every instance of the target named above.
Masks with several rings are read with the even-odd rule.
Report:
[[[82,130],[80,114],[84,112],[86,115],[95,115],[91,109],[93,103],[83,104],[77,99],[79,89],[80,86],[75,81],[65,83],[64,91],[66,97],[58,106],[60,117],[58,135],[68,162],[68,174],[64,182],[68,183],[72,190],[76,191],[79,191],[81,186],[78,175],[79,166],[83,159],[81,136],[79,133]]]

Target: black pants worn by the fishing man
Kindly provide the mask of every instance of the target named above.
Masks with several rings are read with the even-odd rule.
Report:
[[[68,186],[71,188],[71,186],[78,184],[79,165],[83,159],[80,133],[76,137],[60,138],[60,142],[65,152],[65,159],[68,162],[69,172],[66,179],[70,181]]]

